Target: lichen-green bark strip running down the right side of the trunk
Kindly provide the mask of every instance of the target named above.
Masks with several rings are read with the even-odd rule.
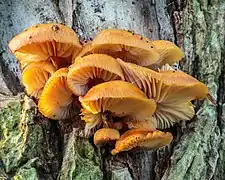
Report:
[[[189,72],[209,87],[217,104],[209,100],[196,103],[196,117],[187,123],[183,136],[174,147],[162,179],[224,179],[223,143],[224,127],[221,126],[220,85],[224,49],[224,2],[206,3],[187,1],[181,15],[181,29],[185,60],[184,71]],[[222,155],[222,156],[221,156]],[[219,174],[217,172],[220,171]],[[219,177],[218,177],[219,175]]]

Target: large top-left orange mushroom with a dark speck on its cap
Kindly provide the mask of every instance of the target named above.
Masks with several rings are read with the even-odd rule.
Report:
[[[9,48],[22,68],[34,61],[49,60],[58,69],[70,65],[82,46],[71,28],[49,23],[32,26],[16,35]]]

